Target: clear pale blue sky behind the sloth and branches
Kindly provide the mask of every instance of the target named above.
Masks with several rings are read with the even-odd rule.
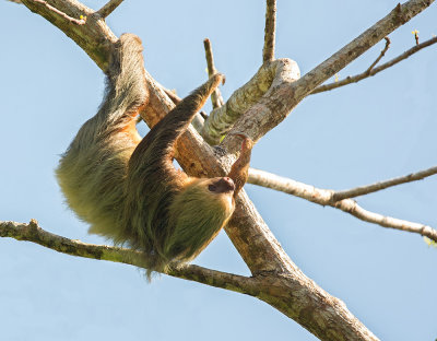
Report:
[[[304,74],[397,2],[279,0],[276,56],[296,60]],[[95,9],[103,3],[85,1]],[[104,75],[72,40],[25,7],[0,0],[0,220],[36,219],[52,233],[107,243],[87,235],[54,177],[59,155],[101,103]],[[413,30],[421,40],[437,34],[436,17],[433,4],[392,34],[383,60],[413,46]],[[117,35],[139,35],[147,71],[181,96],[206,79],[205,37],[226,74],[225,98],[262,59],[264,1],[126,0],[108,24]],[[340,78],[365,70],[382,47],[383,42]],[[333,189],[434,166],[436,80],[432,46],[358,84],[309,96],[255,146],[252,166]],[[293,261],[381,340],[437,338],[437,249],[422,237],[272,190],[251,185],[246,190]],[[436,190],[437,177],[430,177],[358,202],[437,227]],[[194,263],[249,274],[224,232]],[[268,338],[315,340],[249,296],[165,275],[147,284],[129,266],[0,239],[1,340]]]

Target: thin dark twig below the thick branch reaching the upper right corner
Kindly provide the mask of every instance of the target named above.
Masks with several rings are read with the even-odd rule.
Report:
[[[359,74],[356,74],[356,75],[349,75],[347,78],[345,78],[344,80],[342,80],[340,82],[334,82],[334,83],[330,83],[330,84],[320,85],[320,86],[316,87],[311,92],[311,95],[317,94],[317,93],[321,93],[321,92],[324,92],[324,91],[330,91],[330,90],[333,90],[333,89],[336,89],[336,87],[341,87],[341,86],[344,86],[344,85],[347,85],[347,84],[351,84],[351,83],[357,83],[361,80],[364,80],[364,79],[366,79],[368,77],[373,77],[373,75],[375,75],[375,74],[377,74],[377,73],[379,73],[379,72],[381,72],[381,71],[383,71],[383,70],[386,70],[386,69],[388,69],[388,68],[390,68],[390,67],[392,67],[394,64],[397,64],[398,62],[409,58],[410,56],[414,55],[415,52],[418,52],[421,49],[423,49],[425,47],[428,47],[428,46],[430,46],[433,44],[436,44],[436,43],[437,43],[437,37],[433,37],[433,38],[430,38],[430,39],[428,39],[428,40],[426,40],[426,42],[424,42],[422,44],[418,44],[418,45],[410,48],[409,50],[404,51],[402,55],[399,55],[398,57],[389,60],[388,62],[386,62],[386,63],[383,63],[383,64],[381,64],[381,66],[379,66],[377,68],[371,69],[370,72],[368,72],[368,70],[366,70],[363,73],[359,73]]]

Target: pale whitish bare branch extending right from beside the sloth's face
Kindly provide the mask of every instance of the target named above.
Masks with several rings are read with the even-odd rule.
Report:
[[[417,173],[418,174],[418,173]],[[423,176],[424,177],[424,176]],[[398,178],[399,179],[399,178]],[[393,179],[397,180],[397,179]],[[391,181],[393,181],[391,180]],[[406,231],[417,233],[422,236],[426,236],[429,239],[437,242],[437,231],[430,226],[417,224],[404,220],[399,220],[391,216],[385,216],[378,213],[374,213],[361,208],[352,199],[343,199],[340,201],[334,200],[335,192],[333,190],[316,188],[310,185],[306,185],[299,181],[295,181],[288,178],[284,178],[264,170],[249,169],[250,184],[263,186],[274,190],[283,191],[285,193],[306,199],[308,201],[321,204],[330,205],[335,209],[342,210],[350,213],[363,221],[377,224],[383,227],[395,228],[400,231]],[[406,181],[398,181],[402,184]],[[394,186],[394,185],[392,185]],[[388,187],[388,186],[387,186]],[[386,187],[386,188],[387,188]]]

